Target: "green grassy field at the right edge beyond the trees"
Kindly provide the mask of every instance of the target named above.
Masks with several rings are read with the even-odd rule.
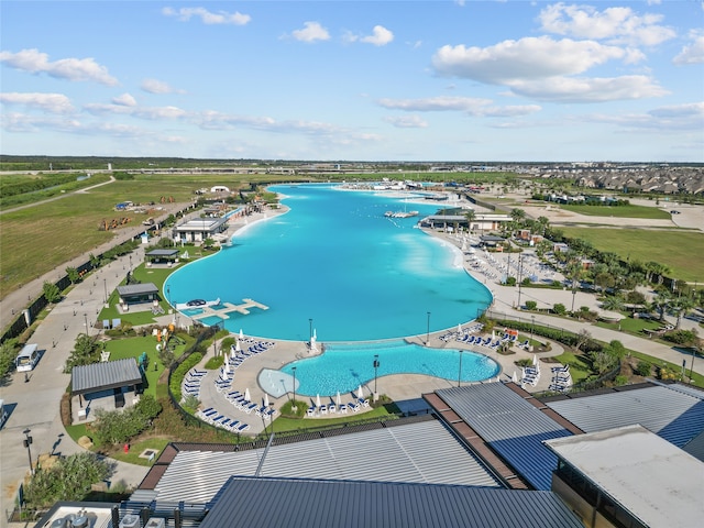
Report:
[[[566,237],[586,240],[600,251],[625,260],[658,262],[682,280],[704,277],[704,234],[688,231],[654,231],[609,228],[560,228]]]

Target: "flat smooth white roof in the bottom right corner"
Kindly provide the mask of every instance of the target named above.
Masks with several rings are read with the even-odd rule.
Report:
[[[642,526],[701,526],[704,463],[642,426],[546,442]]]

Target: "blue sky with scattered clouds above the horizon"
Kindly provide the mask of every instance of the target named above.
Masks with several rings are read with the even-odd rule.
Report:
[[[0,2],[0,152],[704,161],[704,3]]]

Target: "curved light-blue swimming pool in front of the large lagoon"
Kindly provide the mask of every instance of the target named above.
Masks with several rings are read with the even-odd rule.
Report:
[[[375,355],[378,355],[380,362],[376,373],[378,378],[392,374],[425,374],[454,382],[458,378],[462,382],[479,382],[494,377],[501,372],[498,363],[476,352],[428,349],[400,340],[330,344],[321,355],[298,360],[282,367],[279,372],[286,374],[286,378],[270,376],[271,380],[276,380],[280,388],[267,387],[266,383],[262,385],[274,396],[280,396],[282,388],[293,392],[293,369],[296,367],[297,395],[334,396],[338,391],[341,394],[351,393],[360,385],[370,385],[373,389]]]

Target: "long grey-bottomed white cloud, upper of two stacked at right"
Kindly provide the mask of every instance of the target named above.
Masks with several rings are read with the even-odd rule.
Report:
[[[595,41],[554,41],[549,36],[503,41],[488,47],[446,45],[432,57],[439,75],[488,84],[581,74],[610,59],[632,54]]]

